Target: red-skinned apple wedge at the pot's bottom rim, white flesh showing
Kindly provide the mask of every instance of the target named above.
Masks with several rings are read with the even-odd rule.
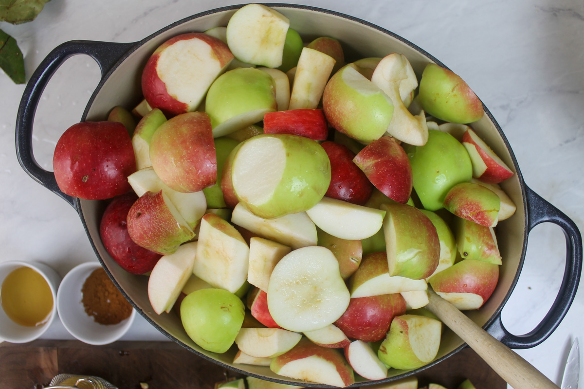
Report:
[[[270,365],[280,376],[318,384],[346,387],[354,383],[353,369],[337,349],[325,348],[303,338]]]

